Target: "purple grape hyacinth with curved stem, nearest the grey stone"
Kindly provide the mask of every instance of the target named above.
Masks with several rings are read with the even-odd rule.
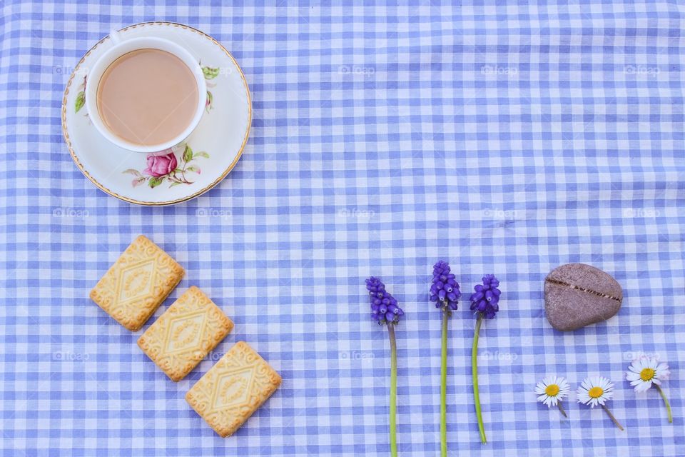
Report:
[[[494,318],[497,311],[499,311],[499,296],[502,291],[499,290],[499,280],[494,277],[494,274],[487,274],[483,276],[482,285],[478,284],[474,287],[474,293],[471,294],[471,311],[478,315],[476,321],[476,328],[473,337],[473,346],[471,348],[471,374],[473,376],[473,397],[476,403],[476,416],[478,418],[478,431],[480,431],[480,441],[485,444],[485,428],[483,427],[483,416],[480,411],[480,395],[478,393],[478,334],[480,333],[480,326],[483,318]]]

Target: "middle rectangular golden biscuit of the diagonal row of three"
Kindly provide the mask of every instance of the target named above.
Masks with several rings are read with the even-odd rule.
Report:
[[[138,346],[171,381],[181,381],[233,330],[213,301],[192,286],[138,338]]]

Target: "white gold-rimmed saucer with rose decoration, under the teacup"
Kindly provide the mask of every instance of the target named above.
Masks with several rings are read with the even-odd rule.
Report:
[[[98,189],[117,199],[151,206],[193,199],[218,184],[243,154],[252,123],[243,71],[218,41],[189,26],[144,22],[119,32],[121,39],[165,38],[197,56],[207,81],[207,112],[186,144],[167,155],[126,151],[104,139],[88,119],[83,87],[88,68],[109,47],[106,36],[78,62],[64,91],[62,131],[71,157]]]

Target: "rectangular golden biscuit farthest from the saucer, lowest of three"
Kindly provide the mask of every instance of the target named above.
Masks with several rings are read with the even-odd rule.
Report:
[[[219,436],[230,436],[280,386],[280,375],[239,341],[186,393],[186,401]]]

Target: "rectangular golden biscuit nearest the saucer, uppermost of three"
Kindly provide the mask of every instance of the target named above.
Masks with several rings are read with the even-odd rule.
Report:
[[[138,331],[183,278],[183,267],[146,236],[138,236],[91,291],[91,300],[130,331]]]

